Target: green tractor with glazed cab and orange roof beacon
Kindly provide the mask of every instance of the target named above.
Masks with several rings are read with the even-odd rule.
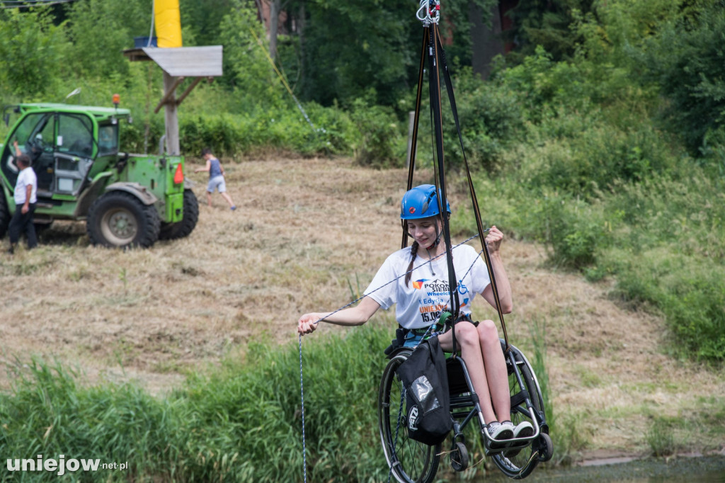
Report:
[[[119,151],[120,121],[130,122],[129,110],[6,106],[6,125],[13,116],[0,144],[0,239],[15,210],[17,151],[30,156],[38,177],[36,226],[86,220],[91,243],[105,247],[151,247],[194,230],[199,204],[184,178],[183,157]]]

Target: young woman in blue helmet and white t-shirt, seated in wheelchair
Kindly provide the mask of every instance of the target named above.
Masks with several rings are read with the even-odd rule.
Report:
[[[299,318],[299,334],[310,334],[319,321],[341,326],[357,326],[367,322],[380,307],[396,304],[396,319],[407,329],[406,347],[415,347],[426,335],[438,316],[450,307],[447,279],[446,244],[442,239],[441,214],[435,186],[424,184],[407,191],[402,199],[402,220],[407,220],[408,234],[413,244],[390,255],[365,289],[365,297],[355,307],[335,313],[306,313]],[[445,202],[447,216],[450,205]],[[501,231],[492,226],[486,235],[486,245],[497,281],[500,306],[504,313],[512,309],[511,286],[504,269],[500,247]],[[460,245],[452,251],[458,281],[460,318],[455,323],[456,349],[465,360],[473,389],[479,395],[486,431],[492,439],[502,441],[515,437],[530,437],[534,429],[528,421],[518,426],[508,419],[511,402],[506,362],[501,349],[497,327],[493,321],[471,321],[471,302],[481,294],[486,302],[496,306],[486,264],[473,247]],[[405,274],[405,276],[403,276]],[[461,275],[463,279],[460,279]],[[394,281],[394,283],[389,283]],[[434,333],[444,351],[452,352],[452,333]]]

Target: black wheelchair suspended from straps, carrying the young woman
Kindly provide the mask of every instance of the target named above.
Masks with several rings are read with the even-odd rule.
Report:
[[[465,361],[460,356],[447,358],[448,386],[451,396],[450,409],[453,420],[452,437],[439,445],[425,445],[407,437],[405,424],[405,389],[398,378],[397,369],[410,356],[409,347],[389,347],[390,359],[378,393],[378,425],[385,458],[390,474],[400,483],[429,483],[438,471],[442,446],[450,441],[450,464],[455,471],[469,466],[468,448],[463,430],[473,419],[478,421],[476,435],[482,439],[484,454],[492,457],[503,474],[512,479],[523,479],[534,471],[539,462],[549,461],[553,444],[544,413],[544,400],[539,382],[531,364],[521,350],[501,339],[508,369],[511,394],[511,421],[519,424],[529,421],[534,426],[531,437],[508,440],[506,447],[492,447],[488,432],[482,431],[486,422],[480,409],[474,404],[475,395]],[[469,432],[470,434],[470,432]]]

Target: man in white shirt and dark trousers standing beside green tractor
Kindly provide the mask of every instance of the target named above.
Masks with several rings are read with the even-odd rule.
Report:
[[[20,234],[25,232],[28,238],[28,249],[38,246],[38,238],[36,237],[36,227],[33,225],[33,212],[36,210],[36,191],[38,189],[38,178],[33,168],[30,168],[30,157],[28,154],[20,154],[15,159],[15,164],[20,169],[15,183],[15,212],[8,226],[8,234],[10,236],[9,253],[15,251]]]

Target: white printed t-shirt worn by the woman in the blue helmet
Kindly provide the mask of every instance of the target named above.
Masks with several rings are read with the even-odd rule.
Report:
[[[460,313],[471,313],[471,302],[476,294],[489,285],[486,263],[478,252],[468,245],[453,249],[453,268],[458,280]],[[450,287],[446,255],[431,263],[415,257],[410,283],[405,284],[405,272],[410,264],[410,247],[390,255],[365,289],[365,295],[384,309],[393,304],[395,318],[406,329],[420,329],[434,323],[443,310],[450,310]],[[463,278],[463,280],[461,280]]]

